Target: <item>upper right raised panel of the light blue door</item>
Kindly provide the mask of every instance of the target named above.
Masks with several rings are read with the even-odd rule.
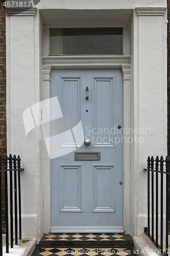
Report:
[[[93,77],[92,145],[114,146],[115,77]]]

